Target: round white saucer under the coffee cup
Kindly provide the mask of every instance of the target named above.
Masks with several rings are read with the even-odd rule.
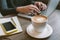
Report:
[[[44,29],[44,31],[42,33],[38,33],[36,31],[34,31],[32,24],[30,24],[27,27],[27,33],[31,37],[34,37],[34,38],[47,38],[52,34],[52,32],[53,32],[53,29],[49,24],[47,24],[46,28]]]

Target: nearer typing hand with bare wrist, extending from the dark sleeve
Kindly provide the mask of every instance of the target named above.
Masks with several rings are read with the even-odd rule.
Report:
[[[29,13],[32,11],[39,12],[40,10],[38,9],[37,6],[31,4],[31,5],[27,5],[27,6],[17,7],[16,11],[21,12],[21,13]]]

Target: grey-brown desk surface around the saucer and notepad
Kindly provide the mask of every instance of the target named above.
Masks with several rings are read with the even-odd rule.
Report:
[[[35,39],[30,37],[26,33],[26,28],[31,23],[31,21],[21,17],[18,17],[18,18],[21,23],[23,32],[13,36],[9,36],[9,38],[12,40],[40,40],[40,39]],[[48,24],[52,26],[54,32],[49,38],[41,39],[41,40],[60,40],[60,30],[59,30],[60,29],[60,10],[56,10],[51,16],[49,16]]]

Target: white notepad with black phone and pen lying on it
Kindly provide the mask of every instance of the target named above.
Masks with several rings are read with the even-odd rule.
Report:
[[[11,18],[13,19],[14,22],[11,20]],[[9,33],[10,33],[9,35],[12,35],[12,34],[22,32],[22,27],[20,25],[20,22],[18,21],[17,16],[10,17],[10,18],[2,18],[0,19],[0,24],[3,25],[3,28],[0,25],[0,36],[5,36],[8,35]]]

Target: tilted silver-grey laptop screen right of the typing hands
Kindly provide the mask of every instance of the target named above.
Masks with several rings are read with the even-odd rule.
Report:
[[[50,16],[52,12],[56,9],[60,0],[50,0],[48,3],[48,8],[44,11],[44,15]]]

